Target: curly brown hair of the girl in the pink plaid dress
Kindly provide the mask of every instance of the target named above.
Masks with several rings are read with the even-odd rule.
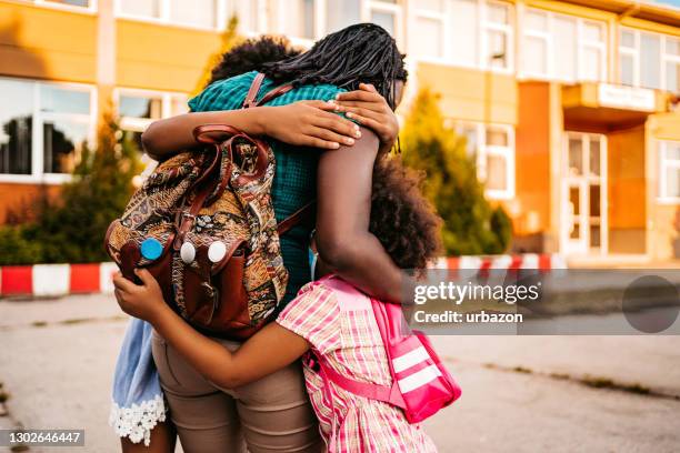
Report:
[[[397,155],[373,167],[369,231],[401,269],[423,270],[442,250],[442,221],[420,192],[421,180]]]

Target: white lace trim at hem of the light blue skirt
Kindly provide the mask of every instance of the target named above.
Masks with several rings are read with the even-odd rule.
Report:
[[[151,430],[159,422],[166,421],[166,402],[162,395],[156,395],[153,400],[132,404],[131,407],[120,407],[116,402],[111,403],[109,425],[121,437],[129,437],[132,443],[144,440],[144,445],[151,443]]]

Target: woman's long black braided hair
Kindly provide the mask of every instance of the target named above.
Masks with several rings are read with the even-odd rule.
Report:
[[[262,72],[276,83],[330,83],[357,90],[372,83],[394,105],[394,81],[407,80],[404,54],[394,39],[380,26],[358,23],[331,33],[307,52],[282,61],[266,63]]]

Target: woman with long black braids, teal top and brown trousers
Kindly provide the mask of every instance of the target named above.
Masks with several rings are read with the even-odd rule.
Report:
[[[201,124],[227,123],[262,135],[277,160],[277,220],[316,199],[316,244],[326,269],[367,294],[400,303],[408,276],[369,226],[373,163],[397,138],[393,110],[407,79],[403,54],[382,28],[361,23],[329,34],[307,52],[264,63],[260,72],[266,78],[258,99],[281,84],[293,89],[263,107],[240,110],[257,72],[214,80],[189,102],[191,113],[158,121],[144,132],[147,152],[164,159],[196,147],[192,130]],[[299,224],[281,236],[290,275],[281,310],[311,280],[312,229]],[[121,302],[122,292],[117,296]],[[230,351],[240,346],[214,341]],[[223,390],[156,332],[152,350],[186,452],[322,450],[298,362]]]

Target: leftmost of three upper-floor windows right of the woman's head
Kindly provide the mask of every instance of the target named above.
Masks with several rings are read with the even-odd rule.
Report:
[[[416,3],[410,53],[463,67],[512,68],[509,3],[489,0],[427,0]]]

